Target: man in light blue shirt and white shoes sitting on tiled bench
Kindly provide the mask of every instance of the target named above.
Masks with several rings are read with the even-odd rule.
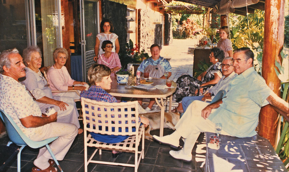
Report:
[[[185,139],[184,148],[170,151],[175,159],[192,160],[192,149],[201,132],[215,132],[215,123],[222,123],[221,134],[251,137],[262,106],[270,103],[279,113],[288,114],[289,104],[279,98],[266,85],[265,80],[254,70],[254,54],[249,48],[234,51],[233,66],[238,76],[227,87],[227,97],[209,104],[194,101],[175,126],[176,131],[164,137],[153,136],[161,143],[179,146],[179,138]]]

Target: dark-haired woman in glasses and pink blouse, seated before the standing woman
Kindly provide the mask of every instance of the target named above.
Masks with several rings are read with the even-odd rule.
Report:
[[[103,54],[98,56],[98,64],[104,64],[108,66],[111,71],[111,76],[114,77],[114,73],[121,69],[121,61],[119,60],[118,54],[112,52],[112,42],[110,40],[105,40],[102,42],[101,49],[105,51]]]

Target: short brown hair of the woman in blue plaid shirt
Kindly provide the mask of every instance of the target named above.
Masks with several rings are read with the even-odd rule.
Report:
[[[111,71],[104,64],[94,64],[88,69],[88,82],[90,85],[101,82],[102,78],[110,75]]]

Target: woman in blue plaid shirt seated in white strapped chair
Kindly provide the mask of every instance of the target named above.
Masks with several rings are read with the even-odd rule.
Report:
[[[110,68],[103,64],[94,64],[88,70],[88,81],[91,85],[87,91],[82,91],[80,97],[88,98],[96,101],[103,101],[114,103],[117,102],[116,98],[110,95],[105,90],[109,90],[111,88],[110,83],[112,82],[110,78]],[[138,122],[141,122],[146,127],[149,124],[149,120],[145,117],[138,117]],[[100,142],[105,143],[118,143],[122,142],[129,136],[115,136],[115,135],[107,135],[107,134],[97,134],[90,132],[91,136]],[[112,151],[112,157],[116,158],[119,153],[117,151]]]

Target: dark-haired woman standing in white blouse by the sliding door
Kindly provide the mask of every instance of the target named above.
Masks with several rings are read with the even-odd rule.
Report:
[[[118,36],[115,33],[112,33],[114,29],[112,22],[108,19],[102,20],[100,23],[100,29],[101,33],[97,34],[94,47],[95,57],[93,60],[96,62],[98,55],[104,53],[104,51],[101,49],[101,45],[104,40],[110,40],[112,42],[114,47],[112,52],[118,53],[119,51]]]

